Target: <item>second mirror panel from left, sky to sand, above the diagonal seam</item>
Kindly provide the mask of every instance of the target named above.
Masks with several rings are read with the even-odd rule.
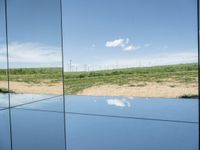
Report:
[[[8,0],[12,106],[62,94],[60,31],[59,0]]]

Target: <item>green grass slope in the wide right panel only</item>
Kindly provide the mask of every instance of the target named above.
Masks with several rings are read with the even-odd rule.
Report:
[[[197,64],[141,67],[96,72],[65,73],[65,91],[76,94],[91,86],[115,84],[145,86],[148,82],[197,83]]]

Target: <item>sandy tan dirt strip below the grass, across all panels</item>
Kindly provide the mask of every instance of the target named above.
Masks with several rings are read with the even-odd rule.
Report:
[[[25,82],[10,82],[10,87],[10,90],[16,93],[62,94],[62,83],[31,84]],[[7,82],[0,81],[0,88],[7,88]],[[94,86],[84,89],[78,95],[176,98],[182,95],[197,95],[197,93],[197,84],[147,83],[137,86]]]

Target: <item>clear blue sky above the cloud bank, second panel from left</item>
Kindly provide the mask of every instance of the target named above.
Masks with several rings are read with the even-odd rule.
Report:
[[[59,0],[8,1],[10,42],[60,46]]]

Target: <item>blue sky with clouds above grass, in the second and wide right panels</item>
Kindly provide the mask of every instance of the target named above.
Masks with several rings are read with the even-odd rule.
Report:
[[[26,54],[13,63],[59,65],[59,1],[9,6],[10,48]],[[66,70],[197,61],[196,0],[63,0],[63,31]]]

